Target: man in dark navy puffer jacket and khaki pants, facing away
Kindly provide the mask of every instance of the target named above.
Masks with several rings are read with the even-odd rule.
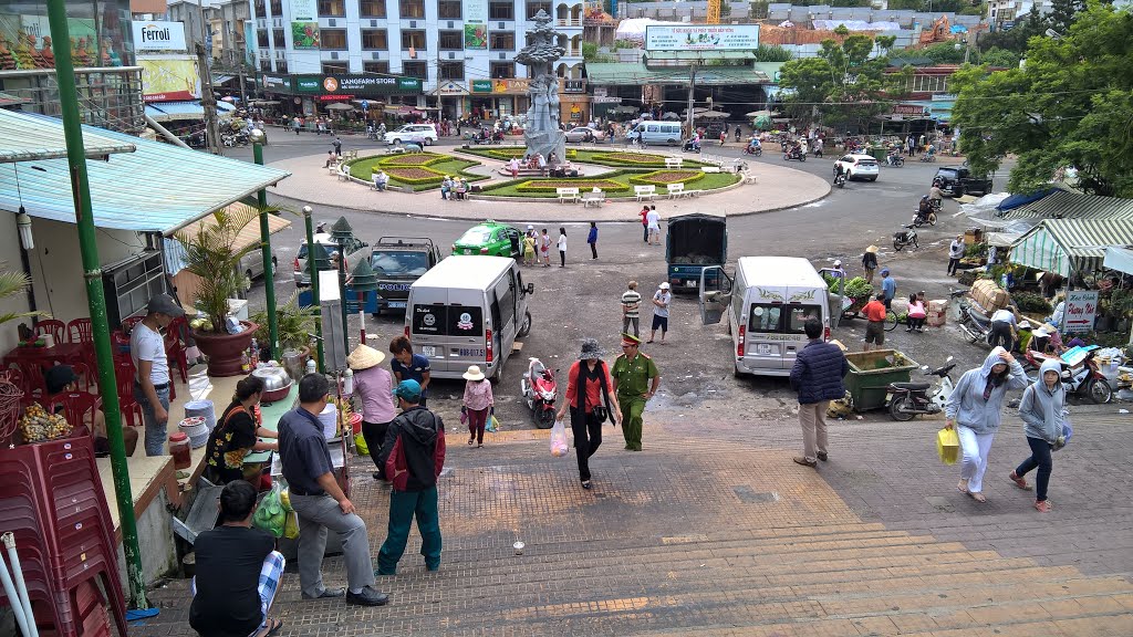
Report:
[[[823,340],[823,323],[818,318],[808,318],[803,329],[810,342],[791,368],[791,389],[799,392],[803,445],[803,455],[795,456],[794,461],[816,467],[818,460],[826,461],[826,408],[830,400],[845,396],[842,379],[850,372],[850,364],[842,348]]]

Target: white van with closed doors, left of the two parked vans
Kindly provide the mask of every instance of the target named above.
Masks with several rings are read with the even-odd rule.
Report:
[[[479,365],[499,380],[516,338],[531,330],[533,294],[514,258],[450,256],[409,287],[406,336],[428,357],[434,379],[459,379]]]

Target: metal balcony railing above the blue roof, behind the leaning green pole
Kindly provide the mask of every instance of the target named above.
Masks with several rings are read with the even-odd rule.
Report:
[[[29,86],[15,87],[6,83],[5,88],[5,93],[27,100],[22,107],[24,111],[62,117],[54,69],[0,73],[2,79],[12,77],[28,78]],[[142,67],[77,68],[75,87],[83,124],[129,134],[145,128]]]

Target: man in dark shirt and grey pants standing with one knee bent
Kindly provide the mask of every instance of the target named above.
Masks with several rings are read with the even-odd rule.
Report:
[[[355,513],[334,479],[331,452],[323,439],[318,414],[326,407],[330,383],[322,374],[299,381],[299,407],[280,418],[280,460],[299,516],[299,585],[305,600],[341,597],[348,604],[381,606],[390,596],[375,588],[366,523]],[[347,591],[323,586],[326,530],[342,538]]]

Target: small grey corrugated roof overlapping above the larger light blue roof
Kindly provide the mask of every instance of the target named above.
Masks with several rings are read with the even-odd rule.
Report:
[[[53,120],[57,121],[57,120]],[[134,144],[97,133],[83,131],[86,156],[101,158],[111,153],[133,153]],[[67,156],[63,127],[29,120],[25,113],[0,109],[0,163]]]

